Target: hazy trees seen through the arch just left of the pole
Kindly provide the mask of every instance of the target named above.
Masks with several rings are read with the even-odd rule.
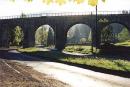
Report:
[[[67,33],[67,43],[82,44],[91,42],[91,38],[91,29],[84,24],[76,24]]]

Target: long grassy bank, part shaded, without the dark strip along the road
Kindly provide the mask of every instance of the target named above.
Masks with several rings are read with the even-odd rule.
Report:
[[[44,57],[46,57],[49,60],[55,59],[77,64],[85,64],[95,67],[102,67],[106,69],[130,72],[130,61],[123,60],[124,58],[115,58],[115,56],[111,58],[108,58],[107,56],[97,56],[96,58],[94,56],[78,57],[56,51],[38,51],[38,48],[19,49],[19,51],[28,55],[42,57],[43,59]]]

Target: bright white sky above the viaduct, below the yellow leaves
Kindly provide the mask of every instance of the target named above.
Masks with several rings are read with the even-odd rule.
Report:
[[[98,11],[121,11],[130,10],[130,0],[106,0],[105,3],[99,0]],[[24,0],[0,0],[0,16],[20,15],[21,13],[41,13],[41,12],[87,12],[95,11],[95,7],[89,6],[86,2],[76,4],[74,2],[67,2],[64,5],[52,3],[47,5],[42,0],[33,0],[28,3]]]

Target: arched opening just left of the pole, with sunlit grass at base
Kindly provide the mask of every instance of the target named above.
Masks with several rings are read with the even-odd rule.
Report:
[[[64,51],[84,53],[91,52],[92,32],[86,24],[75,24],[67,32],[67,42]]]

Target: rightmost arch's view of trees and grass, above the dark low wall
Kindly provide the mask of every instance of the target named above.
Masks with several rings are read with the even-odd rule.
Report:
[[[101,45],[130,46],[130,32],[128,28],[119,23],[112,23],[101,31]]]

